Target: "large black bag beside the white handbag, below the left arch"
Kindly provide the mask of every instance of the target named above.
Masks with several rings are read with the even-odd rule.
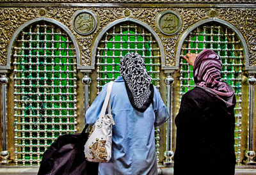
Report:
[[[87,162],[84,144],[89,133],[64,134],[45,151],[38,175],[41,174],[98,174],[99,163]]]

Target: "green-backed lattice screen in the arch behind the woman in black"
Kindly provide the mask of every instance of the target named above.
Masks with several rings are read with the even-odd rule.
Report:
[[[235,89],[236,116],[235,150],[237,162],[241,162],[241,73],[243,66],[243,47],[236,33],[228,27],[205,24],[192,31],[182,45],[180,53],[180,95],[195,88],[193,67],[182,57],[188,52],[200,53],[203,49],[212,49],[221,56],[221,80]]]

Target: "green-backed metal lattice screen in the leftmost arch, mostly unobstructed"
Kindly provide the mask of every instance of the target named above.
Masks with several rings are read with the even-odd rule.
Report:
[[[39,165],[58,136],[76,132],[76,52],[60,27],[38,22],[20,32],[13,58],[15,163]]]

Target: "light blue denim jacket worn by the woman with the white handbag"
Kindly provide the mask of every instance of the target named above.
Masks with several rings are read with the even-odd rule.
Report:
[[[107,86],[103,86],[86,112],[86,123],[93,125],[97,121]],[[110,100],[115,120],[112,155],[108,163],[99,164],[99,174],[157,174],[154,126],[160,126],[169,119],[159,91],[154,87],[154,110],[150,105],[145,112],[138,112],[129,101],[124,79],[118,77]]]

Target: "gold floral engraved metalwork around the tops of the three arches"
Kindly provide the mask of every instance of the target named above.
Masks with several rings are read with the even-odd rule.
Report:
[[[53,2],[54,0],[52,0]],[[56,0],[58,1],[58,0]],[[190,1],[190,0],[187,0]],[[213,0],[212,0],[213,1]],[[7,1],[4,1],[7,2]],[[33,2],[33,0],[28,0]],[[55,2],[55,1],[54,1]],[[69,2],[69,1],[68,1]],[[104,1],[105,2],[105,1]],[[120,1],[122,2],[122,1]],[[145,1],[146,2],[146,1]],[[161,1],[162,2],[162,1]],[[206,2],[206,1],[205,1]],[[215,1],[214,1],[215,2]],[[217,0],[216,0],[217,2]],[[232,1],[227,1],[232,2]],[[247,2],[247,1],[246,1]],[[254,2],[254,1],[252,1]],[[248,3],[248,2],[247,2]],[[45,7],[44,17],[58,20],[74,34],[79,49],[81,51],[81,66],[90,66],[92,63],[92,47],[95,38],[104,27],[111,22],[125,18],[124,11],[127,8],[96,8],[90,7],[87,10],[92,10],[98,16],[98,26],[93,33],[82,36],[74,31],[72,27],[73,15],[77,10],[84,10],[82,7]],[[161,39],[165,50],[165,65],[175,66],[175,47],[177,46],[180,36],[184,31],[191,27],[196,22],[209,18],[207,13],[209,10],[216,10],[218,19],[225,20],[235,26],[241,34],[243,34],[249,50],[250,66],[256,66],[256,10],[246,8],[129,8],[131,18],[141,20],[150,26]],[[182,27],[177,34],[166,36],[157,29],[157,15],[165,10],[176,11],[182,19]],[[25,22],[42,17],[40,15],[42,8],[0,8],[0,65],[6,65],[7,49],[12,34]]]

